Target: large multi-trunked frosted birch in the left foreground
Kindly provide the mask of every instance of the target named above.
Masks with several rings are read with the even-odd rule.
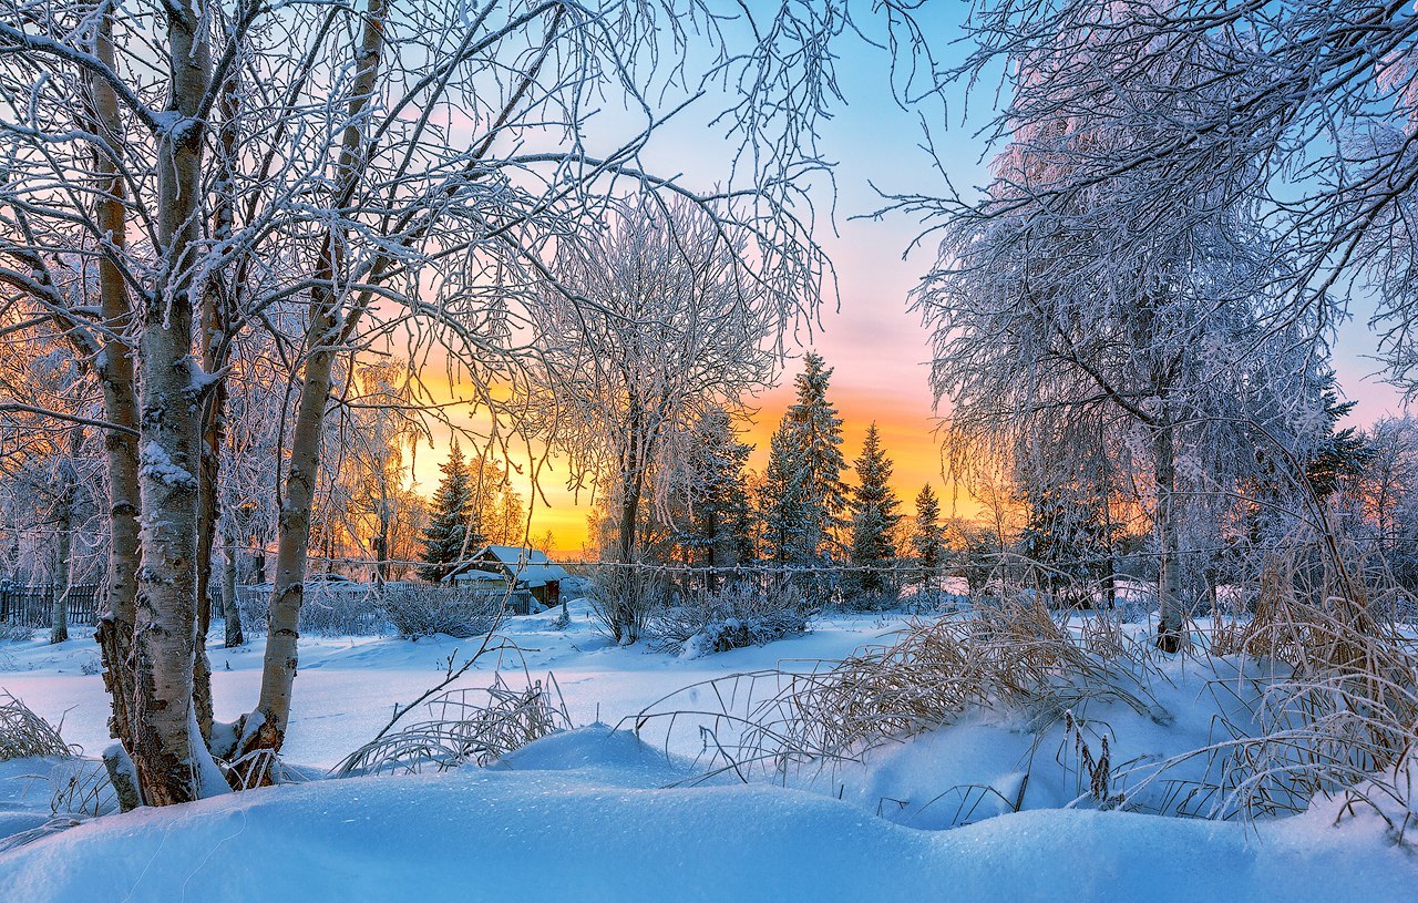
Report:
[[[247,784],[289,723],[336,360],[408,344],[506,428],[492,387],[525,383],[533,286],[553,244],[596,234],[617,184],[686,198],[743,272],[811,306],[805,184],[848,27],[830,4],[698,0],[0,3],[0,284],[102,387],[115,777],[132,771],[149,804],[225,785],[199,588],[238,337],[278,336],[295,374],[262,686],[220,750],[245,757],[231,774]],[[718,120],[739,149],[729,180],[696,193],[648,172],[652,135],[716,85],[737,88]],[[591,129],[601,102],[630,125]]]

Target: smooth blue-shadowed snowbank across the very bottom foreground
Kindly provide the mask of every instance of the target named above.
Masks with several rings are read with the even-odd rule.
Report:
[[[0,900],[1398,900],[1377,819],[1032,811],[919,831],[773,785],[657,790],[590,727],[502,767],[278,787],[88,822],[0,856]]]

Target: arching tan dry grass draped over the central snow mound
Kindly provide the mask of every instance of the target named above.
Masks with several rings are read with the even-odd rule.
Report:
[[[1149,690],[1150,669],[1147,644],[1126,641],[1115,627],[1069,631],[1042,605],[1011,602],[913,624],[891,646],[810,673],[763,671],[685,688],[641,712],[634,726],[661,722],[672,733],[693,724],[708,775],[749,780],[761,770],[783,777],[790,768],[855,760],[971,709],[1014,709],[1042,730],[1098,699],[1166,724],[1173,716]],[[705,690],[712,707],[676,707]]]

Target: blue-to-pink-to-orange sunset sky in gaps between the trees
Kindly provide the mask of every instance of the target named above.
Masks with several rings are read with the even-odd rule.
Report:
[[[927,30],[937,37],[953,30],[949,11]],[[949,38],[940,45],[950,50]],[[876,422],[883,447],[895,464],[893,486],[909,512],[920,486],[932,483],[946,499],[947,512],[954,499],[954,512],[973,516],[976,505],[961,490],[942,476],[940,447],[934,428],[939,413],[927,384],[930,346],[929,335],[917,315],[909,308],[910,289],[934,261],[934,242],[926,237],[912,249],[922,234],[922,225],[905,215],[868,220],[885,206],[881,193],[943,194],[944,179],[923,147],[917,112],[900,109],[891,96],[891,72],[883,51],[862,41],[839,44],[837,81],[842,102],[834,108],[831,120],[820,130],[822,156],[835,163],[835,196],[831,186],[818,183],[814,198],[820,214],[831,210],[831,217],[820,215],[817,240],[837,269],[837,296],[828,299],[820,316],[820,327],[800,330],[790,353],[800,357],[815,349],[834,369],[828,398],[844,420],[844,452],[848,462],[861,449],[868,424]],[[957,51],[959,52],[959,51]],[[712,98],[710,98],[712,99]],[[927,111],[934,122],[947,128],[934,133],[934,157],[961,191],[983,186],[987,180],[986,162],[991,150],[976,135],[988,115],[993,86],[978,88],[966,105],[957,91],[946,98],[947,108]],[[964,111],[971,115],[963,115]],[[647,153],[647,163],[658,172],[682,173],[691,186],[710,186],[726,174],[733,146],[723,140],[723,129],[708,128],[709,106],[702,113],[686,116],[658,133]],[[909,254],[908,254],[909,251]],[[1378,363],[1371,360],[1377,342],[1367,327],[1367,312],[1356,309],[1353,319],[1343,325],[1334,346],[1333,366],[1340,387],[1357,404],[1351,421],[1368,424],[1397,414],[1401,398],[1374,374]],[[746,441],[757,451],[750,468],[761,471],[767,458],[769,437],[783,411],[793,400],[791,377],[800,370],[800,360],[788,360],[777,388],[750,400],[757,408]],[[441,439],[441,441],[440,441]],[[424,492],[437,485],[437,465],[447,455],[447,439],[435,434],[435,447],[418,455],[415,478]],[[530,486],[523,478],[523,496]],[[564,471],[552,462],[540,479],[540,495],[533,506],[532,536],[552,530],[556,549],[563,557],[574,557],[586,537],[586,517],[590,513],[583,493],[577,500],[564,489]]]

